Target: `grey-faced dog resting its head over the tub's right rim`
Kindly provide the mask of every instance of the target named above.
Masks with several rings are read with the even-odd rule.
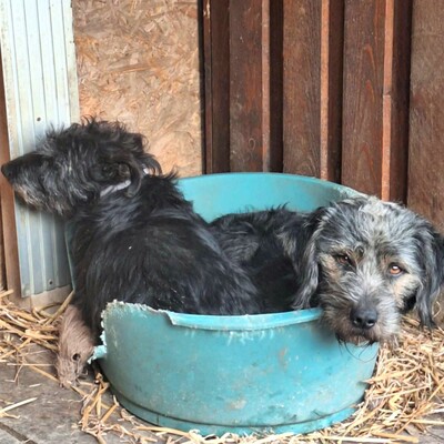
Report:
[[[283,208],[223,216],[213,231],[261,289],[269,312],[323,309],[342,341],[390,342],[416,306],[432,326],[443,238],[395,203],[360,196],[310,214]]]

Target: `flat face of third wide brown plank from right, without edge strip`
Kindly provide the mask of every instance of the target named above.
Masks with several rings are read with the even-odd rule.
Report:
[[[320,176],[321,0],[284,2],[283,170]]]

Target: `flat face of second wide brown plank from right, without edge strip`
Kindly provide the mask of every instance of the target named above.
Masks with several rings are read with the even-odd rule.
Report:
[[[381,195],[384,0],[345,0],[342,183]]]

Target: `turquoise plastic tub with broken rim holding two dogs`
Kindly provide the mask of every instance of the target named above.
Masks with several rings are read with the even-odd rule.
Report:
[[[183,179],[205,219],[286,203],[313,210],[353,195],[316,179],[230,173]],[[202,434],[305,433],[350,416],[377,345],[341,345],[319,309],[204,316],[114,302],[95,355],[121,404],[150,423]]]

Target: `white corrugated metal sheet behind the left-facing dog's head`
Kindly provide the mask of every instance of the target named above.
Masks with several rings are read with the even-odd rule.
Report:
[[[0,0],[1,56],[11,158],[48,125],[79,120],[70,0]],[[22,295],[70,283],[62,224],[16,204]]]

